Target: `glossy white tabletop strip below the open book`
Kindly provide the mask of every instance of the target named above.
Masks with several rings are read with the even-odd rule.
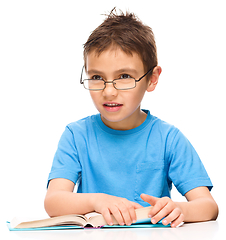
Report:
[[[0,235],[4,239],[41,239],[41,240],[60,240],[60,239],[83,239],[83,240],[135,240],[135,239],[167,239],[167,240],[209,240],[225,239],[225,231],[221,221],[210,221],[202,223],[186,223],[179,228],[119,228],[119,229],[74,229],[58,231],[28,231],[10,232],[6,225],[1,230]]]

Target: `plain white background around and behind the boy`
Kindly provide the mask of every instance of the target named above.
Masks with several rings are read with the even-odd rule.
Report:
[[[47,177],[65,126],[97,113],[79,84],[83,44],[113,7],[156,37],[163,72],[142,107],[178,127],[225,210],[225,1],[0,2],[0,223],[46,217]],[[183,200],[173,191],[174,200]]]

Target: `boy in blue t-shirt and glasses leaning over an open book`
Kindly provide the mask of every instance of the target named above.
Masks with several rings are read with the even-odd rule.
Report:
[[[153,224],[217,218],[212,183],[192,145],[140,108],[161,71],[152,30],[133,14],[112,11],[93,31],[81,83],[99,114],[69,124],[59,141],[45,199],[50,216],[96,211],[109,225],[111,214],[130,225],[135,209],[152,205]],[[187,202],[170,199],[172,183]]]

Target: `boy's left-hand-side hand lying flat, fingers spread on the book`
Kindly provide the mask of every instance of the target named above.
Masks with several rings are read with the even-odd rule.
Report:
[[[113,225],[111,214],[120,225],[131,225],[136,222],[135,209],[142,206],[125,198],[115,197],[104,193],[97,193],[93,199],[96,212],[103,215],[108,225]]]

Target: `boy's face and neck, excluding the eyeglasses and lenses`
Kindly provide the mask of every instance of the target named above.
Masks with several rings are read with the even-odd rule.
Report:
[[[87,55],[86,72],[88,77],[112,81],[125,76],[139,79],[144,73],[144,65],[136,53],[128,55],[120,48],[108,49],[99,56],[92,51]],[[117,90],[112,83],[106,83],[106,88],[90,91],[91,98],[101,114],[102,121],[110,128],[128,130],[138,127],[146,119],[140,104],[145,91],[150,89],[152,80],[143,78],[136,87],[129,90]],[[157,82],[155,83],[155,85]]]

